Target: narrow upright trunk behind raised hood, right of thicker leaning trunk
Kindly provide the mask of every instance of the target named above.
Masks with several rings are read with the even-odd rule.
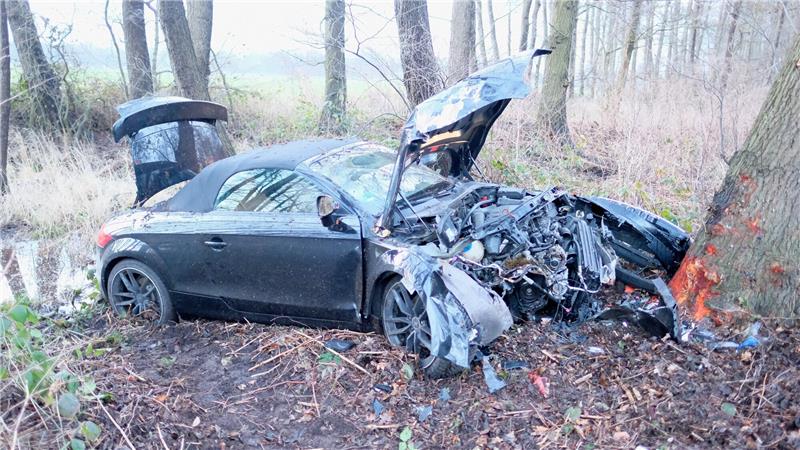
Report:
[[[450,56],[447,64],[447,84],[469,75],[475,61],[475,3],[453,2],[450,24]]]

